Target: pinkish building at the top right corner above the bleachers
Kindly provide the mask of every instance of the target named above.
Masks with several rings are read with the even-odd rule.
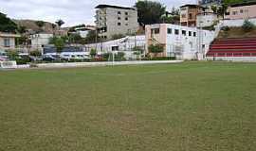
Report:
[[[247,2],[229,6],[226,20],[252,19],[256,18],[256,2]]]

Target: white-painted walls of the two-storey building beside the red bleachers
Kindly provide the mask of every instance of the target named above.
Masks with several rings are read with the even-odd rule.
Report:
[[[168,33],[168,28],[172,29],[171,34]],[[175,30],[179,31],[178,35],[175,34]],[[182,34],[182,30],[186,31],[186,35]],[[165,56],[176,56],[178,59],[203,59],[209,50],[210,42],[214,39],[213,31],[200,30],[196,27],[166,25],[164,32],[160,32],[158,37],[166,37]],[[189,35],[190,32],[191,36]],[[203,45],[205,45],[204,48],[202,48]]]

